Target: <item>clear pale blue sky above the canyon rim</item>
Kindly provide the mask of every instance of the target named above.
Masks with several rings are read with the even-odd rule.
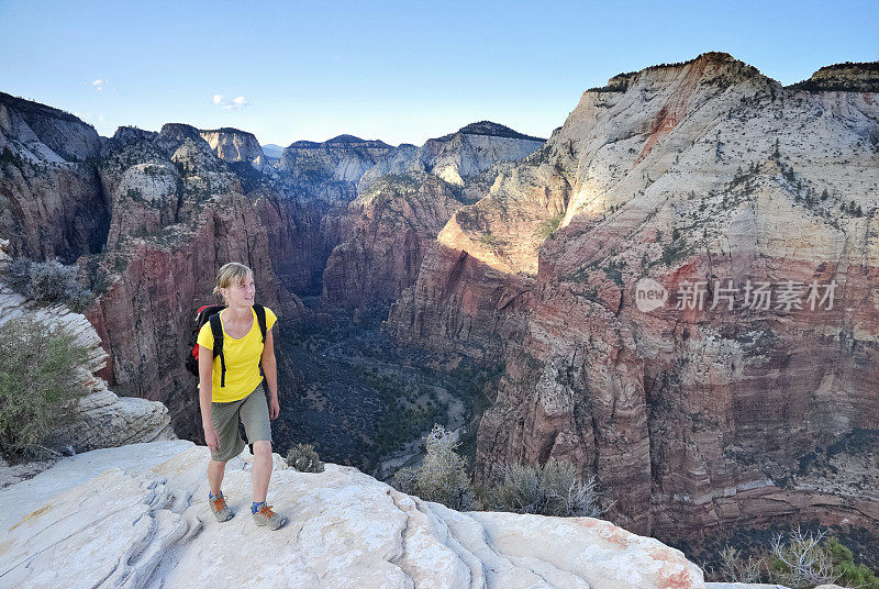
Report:
[[[791,84],[879,59],[877,30],[877,0],[0,0],[0,90],[102,135],[183,122],[264,144],[421,144],[491,120],[545,137],[622,71],[724,51]]]

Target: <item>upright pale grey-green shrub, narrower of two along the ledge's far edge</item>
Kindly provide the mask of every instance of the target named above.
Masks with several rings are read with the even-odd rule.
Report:
[[[425,501],[443,503],[455,510],[468,510],[474,498],[465,459],[455,452],[458,442],[439,424],[425,437],[426,455],[418,468],[400,468],[394,474],[394,487],[416,494]]]

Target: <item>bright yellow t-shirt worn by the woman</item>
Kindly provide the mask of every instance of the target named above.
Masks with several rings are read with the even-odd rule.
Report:
[[[275,321],[278,318],[268,307],[264,307],[264,309],[266,310],[266,337],[268,337],[268,330],[275,325]],[[241,340],[231,337],[225,327],[223,327],[226,386],[220,387],[222,366],[220,365],[220,356],[215,356],[213,358],[213,386],[211,390],[211,401],[215,403],[227,403],[244,399],[263,381],[263,375],[259,374],[259,359],[263,356],[263,336],[259,333],[259,322],[256,320],[256,311],[254,311],[253,307],[251,308],[251,314],[253,314],[254,323],[251,326],[251,331]],[[222,314],[220,315],[220,324],[223,324]],[[210,322],[205,322],[201,326],[198,343],[208,349],[213,349],[213,333],[211,332]],[[199,387],[201,387],[201,384],[199,384]]]

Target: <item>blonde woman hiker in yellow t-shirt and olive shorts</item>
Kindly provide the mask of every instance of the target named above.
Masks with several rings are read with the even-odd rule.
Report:
[[[238,434],[238,422],[244,423],[247,440],[253,444],[254,464],[251,474],[254,501],[251,508],[257,525],[278,530],[287,518],[275,513],[266,503],[266,493],[271,478],[271,425],[269,419],[280,413],[278,404],[277,365],[271,326],[277,320],[270,309],[266,310],[266,343],[253,309],[254,273],[243,264],[230,263],[216,275],[214,293],[221,293],[226,309],[220,313],[223,330],[223,358],[225,378],[221,386],[221,362],[213,357],[213,333],[210,322],[199,331],[199,402],[204,441],[211,448],[208,464],[208,482],[211,490],[208,502],[220,522],[230,520],[234,513],[226,505],[220,489],[226,462],[241,454],[244,441]],[[219,355],[218,355],[219,356]],[[268,402],[263,389],[263,375],[268,381]],[[269,418],[270,415],[270,418]]]

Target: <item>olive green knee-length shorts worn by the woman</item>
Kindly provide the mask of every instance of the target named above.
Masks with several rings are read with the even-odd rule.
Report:
[[[247,442],[271,442],[271,424],[268,419],[268,401],[260,382],[254,391],[237,401],[227,403],[211,402],[211,423],[216,430],[220,447],[211,451],[211,459],[224,463],[241,454],[244,440],[238,432],[238,423],[244,424]]]

